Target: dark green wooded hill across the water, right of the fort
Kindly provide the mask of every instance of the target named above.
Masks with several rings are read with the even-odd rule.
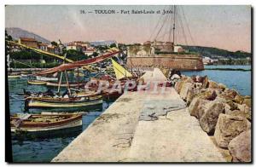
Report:
[[[203,47],[203,46],[182,46],[183,49],[189,49],[189,52],[196,52],[200,53],[202,56],[207,56],[210,58],[247,58],[251,57],[251,53],[247,53],[244,51],[236,51],[236,52],[231,52],[229,50],[225,49],[218,49],[218,48],[212,48],[212,47]]]

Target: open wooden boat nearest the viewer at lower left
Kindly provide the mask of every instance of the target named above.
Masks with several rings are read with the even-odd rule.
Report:
[[[15,114],[10,117],[12,133],[49,132],[82,125],[82,114]]]

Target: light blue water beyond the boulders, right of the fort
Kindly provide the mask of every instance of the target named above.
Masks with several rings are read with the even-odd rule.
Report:
[[[205,68],[251,69],[251,66],[205,66]],[[224,83],[230,89],[236,89],[241,95],[251,95],[251,71],[204,70],[201,72],[182,72],[184,75],[207,75],[212,81]]]

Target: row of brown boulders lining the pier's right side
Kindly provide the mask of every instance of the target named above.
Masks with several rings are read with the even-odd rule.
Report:
[[[233,162],[251,162],[250,96],[239,95],[207,76],[182,76],[174,87],[201,129],[213,135],[218,147],[229,149]]]

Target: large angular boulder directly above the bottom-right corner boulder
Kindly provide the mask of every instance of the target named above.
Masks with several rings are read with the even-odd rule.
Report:
[[[245,130],[250,130],[247,118],[220,113],[215,127],[214,138],[218,147],[228,147],[230,141]]]

